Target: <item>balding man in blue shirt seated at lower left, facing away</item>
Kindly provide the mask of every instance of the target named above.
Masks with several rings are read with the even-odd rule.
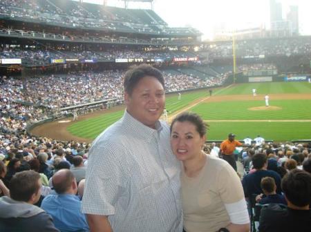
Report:
[[[68,169],[57,171],[52,177],[55,192],[47,195],[41,208],[53,217],[59,231],[89,231],[86,216],[81,213],[81,202],[77,194],[77,182]]]

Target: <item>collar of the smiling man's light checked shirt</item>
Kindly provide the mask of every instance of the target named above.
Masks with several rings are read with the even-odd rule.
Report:
[[[138,135],[140,137],[144,137],[149,141],[152,138],[152,135],[160,133],[160,131],[162,131],[163,129],[159,121],[156,122],[156,129],[153,129],[139,122],[138,119],[135,119],[126,110],[124,112],[122,121],[123,124],[125,124],[125,126],[129,129],[129,131],[131,131],[131,133],[134,133],[135,135]]]

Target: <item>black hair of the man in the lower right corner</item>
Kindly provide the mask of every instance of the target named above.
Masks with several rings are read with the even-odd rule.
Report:
[[[303,207],[311,203],[311,175],[294,169],[286,174],[281,183],[286,198],[295,206]]]

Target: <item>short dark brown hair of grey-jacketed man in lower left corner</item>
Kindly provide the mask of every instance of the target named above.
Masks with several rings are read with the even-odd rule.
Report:
[[[13,175],[10,181],[10,197],[20,202],[28,202],[41,186],[38,184],[39,173],[35,171],[22,171]]]

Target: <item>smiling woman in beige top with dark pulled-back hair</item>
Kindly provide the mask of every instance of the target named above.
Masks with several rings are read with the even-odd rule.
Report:
[[[206,131],[207,126],[194,113],[182,113],[171,124],[171,148],[182,161],[184,229],[249,231],[241,180],[225,160],[202,151]]]

